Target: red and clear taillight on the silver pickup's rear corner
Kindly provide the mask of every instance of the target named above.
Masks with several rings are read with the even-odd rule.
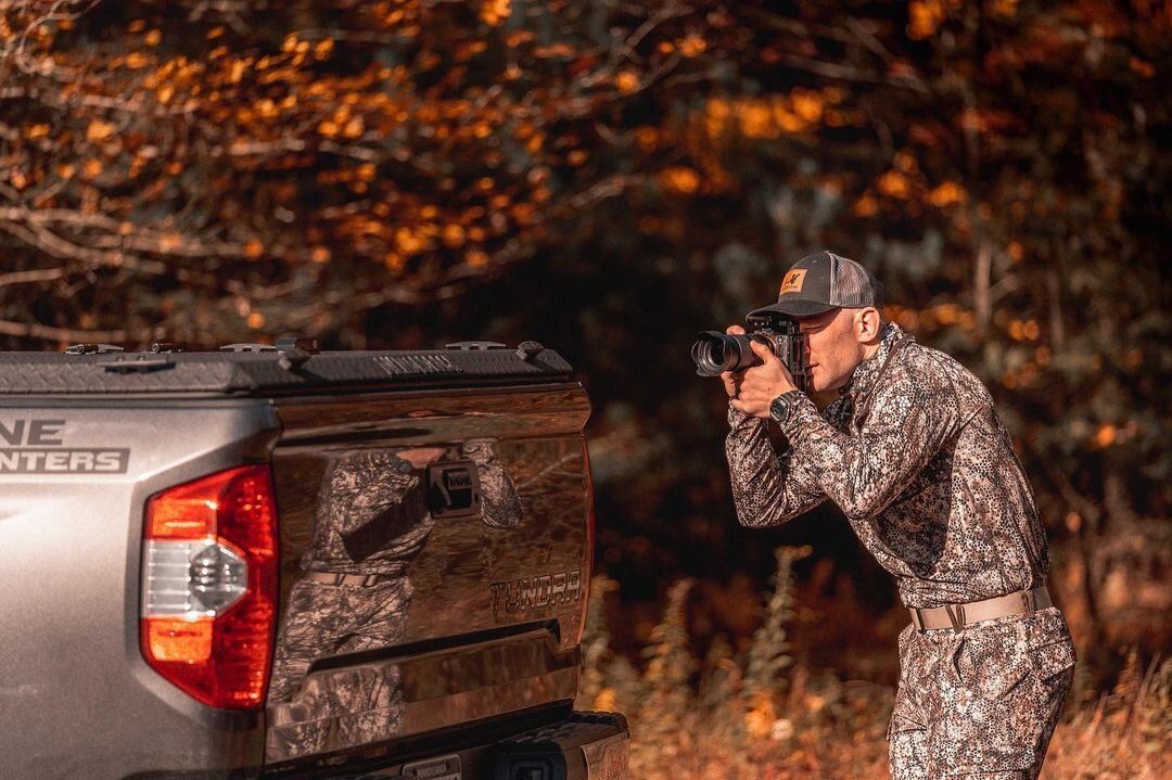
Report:
[[[143,539],[141,643],[204,704],[264,704],[277,617],[277,508],[267,466],[155,494]]]

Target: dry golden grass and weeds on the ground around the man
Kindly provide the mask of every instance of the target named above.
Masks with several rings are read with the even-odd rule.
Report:
[[[597,577],[579,706],[627,713],[631,776],[639,780],[887,778],[886,724],[894,691],[793,665],[785,630],[790,567],[803,550],[777,550],[776,589],[744,657],[716,644],[702,662],[689,650],[689,581],[668,594],[642,669],[609,651]],[[699,675],[697,675],[699,672]],[[1078,683],[1076,682],[1076,686]],[[1172,659],[1143,669],[1132,654],[1116,686],[1071,697],[1043,779],[1172,778]]]

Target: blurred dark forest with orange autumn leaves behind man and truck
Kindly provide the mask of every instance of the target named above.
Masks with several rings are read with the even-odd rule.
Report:
[[[1090,700],[1172,646],[1170,55],[1154,0],[0,0],[0,347],[536,338],[607,652],[683,576],[690,651],[748,652],[810,545],[786,652],[890,686],[890,577],[832,508],[737,527],[689,358],[830,248],[992,389]]]

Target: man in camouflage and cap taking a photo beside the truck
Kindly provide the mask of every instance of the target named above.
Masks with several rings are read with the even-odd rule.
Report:
[[[737,516],[776,526],[829,499],[895,575],[913,622],[899,637],[894,780],[1036,778],[1075,655],[1030,487],[988,390],[879,306],[860,265],[822,252],[754,313],[799,323],[809,390],[837,398],[819,412],[758,343],[763,364],[722,376]],[[768,425],[788,442],[779,456]]]

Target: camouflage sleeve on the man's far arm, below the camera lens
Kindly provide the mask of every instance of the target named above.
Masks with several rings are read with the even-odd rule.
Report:
[[[765,420],[729,406],[729,426],[724,454],[729,461],[732,502],[742,526],[779,526],[826,500],[805,458],[776,454]]]

